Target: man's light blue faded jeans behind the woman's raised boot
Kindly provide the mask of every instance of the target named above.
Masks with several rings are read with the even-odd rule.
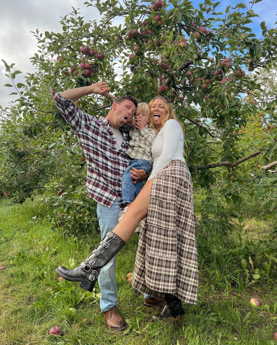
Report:
[[[111,208],[97,203],[97,219],[101,230],[101,238],[103,239],[108,231],[112,231],[118,223],[120,213],[119,201],[115,199]],[[103,268],[101,268],[98,284],[100,287],[100,308],[102,312],[106,312],[117,305],[117,291],[115,282],[115,260],[116,256]],[[144,298],[151,296],[144,295]]]

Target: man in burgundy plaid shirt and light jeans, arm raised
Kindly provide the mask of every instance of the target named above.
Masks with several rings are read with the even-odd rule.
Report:
[[[120,210],[124,208],[121,178],[130,164],[126,154],[128,134],[121,130],[135,114],[137,101],[133,96],[120,99],[112,96],[106,82],[57,93],[54,97],[57,108],[76,134],[87,162],[86,188],[90,197],[97,201],[97,219],[103,239],[118,223]],[[91,93],[115,99],[106,117],[96,119],[80,111],[74,102]],[[132,169],[135,180],[146,180],[144,170]],[[101,269],[98,284],[101,291],[100,307],[107,326],[120,331],[127,325],[117,310],[114,257]],[[147,297],[147,296],[146,296]]]

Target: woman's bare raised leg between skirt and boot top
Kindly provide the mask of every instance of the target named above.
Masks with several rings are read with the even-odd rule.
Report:
[[[125,243],[132,237],[140,220],[147,215],[152,182],[153,180],[146,182],[138,196],[127,208],[124,217],[113,229],[113,232],[123,239]]]

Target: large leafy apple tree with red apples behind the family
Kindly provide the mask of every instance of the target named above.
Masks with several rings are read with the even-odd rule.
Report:
[[[217,10],[220,2],[211,0],[198,8],[187,0],[92,0],[84,4],[99,11],[98,20],[85,22],[73,8],[61,19],[61,32],[34,31],[38,50],[31,61],[37,72],[17,83],[21,72],[5,61],[6,86],[13,87],[18,99],[1,110],[0,189],[24,200],[46,186],[45,200],[57,210],[55,224],[66,210],[70,215],[77,206],[77,213],[88,210],[82,152],[52,98],[58,91],[105,80],[117,97],[130,93],[149,101],[159,94],[173,103],[184,124],[194,187],[207,190],[203,219],[212,212],[221,223],[226,220],[225,201],[242,211],[241,190],[257,195],[260,181],[270,186],[277,179],[275,170],[255,170],[254,161],[259,157],[260,166],[274,166],[277,160],[275,100],[261,99],[267,85],[258,74],[268,81],[267,71],[276,68],[277,31],[263,21],[262,37],[252,32],[249,24],[258,16],[259,1],[229,5],[223,13]],[[107,114],[111,100],[90,95],[77,105],[99,117]],[[273,128],[266,140],[245,141],[242,149],[240,131],[258,112]],[[245,162],[252,162],[249,171],[236,175]],[[29,178],[31,166],[35,172],[27,186],[18,176]],[[272,216],[276,189],[274,193]]]

